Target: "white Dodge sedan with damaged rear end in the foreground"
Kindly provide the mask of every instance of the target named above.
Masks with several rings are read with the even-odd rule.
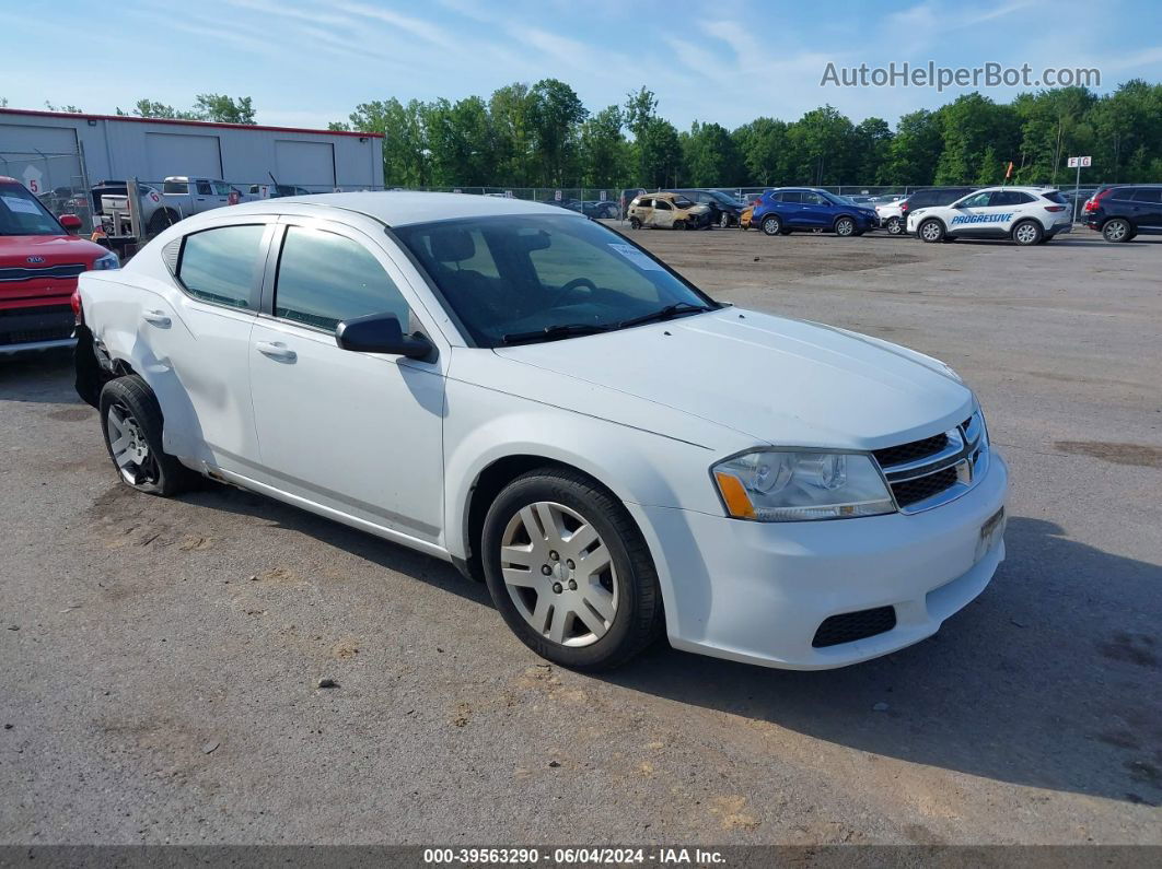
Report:
[[[201,473],[451,562],[565,666],[664,631],[854,664],[1004,557],[1006,466],[947,365],[720,305],[552,205],[248,203],[79,295],[78,390],[125,484]]]

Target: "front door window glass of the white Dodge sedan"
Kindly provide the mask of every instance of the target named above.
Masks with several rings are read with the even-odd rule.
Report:
[[[409,330],[409,307],[371,252],[353,239],[288,226],[274,283],[274,316],[333,332],[342,320],[394,313]]]

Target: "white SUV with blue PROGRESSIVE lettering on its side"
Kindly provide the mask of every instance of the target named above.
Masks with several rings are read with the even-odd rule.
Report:
[[[908,232],[925,241],[1000,238],[1039,245],[1073,227],[1068,201],[1052,187],[987,187],[908,215]]]

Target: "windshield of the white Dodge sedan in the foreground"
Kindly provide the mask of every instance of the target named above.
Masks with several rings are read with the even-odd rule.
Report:
[[[480,347],[626,327],[669,305],[679,309],[668,316],[717,307],[616,232],[578,217],[442,220],[395,233]]]

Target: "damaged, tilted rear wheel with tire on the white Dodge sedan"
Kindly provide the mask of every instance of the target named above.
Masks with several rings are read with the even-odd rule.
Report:
[[[162,449],[162,407],[141,377],[109,381],[101,390],[99,408],[105,448],[127,486],[168,497],[196,479],[193,471]]]

